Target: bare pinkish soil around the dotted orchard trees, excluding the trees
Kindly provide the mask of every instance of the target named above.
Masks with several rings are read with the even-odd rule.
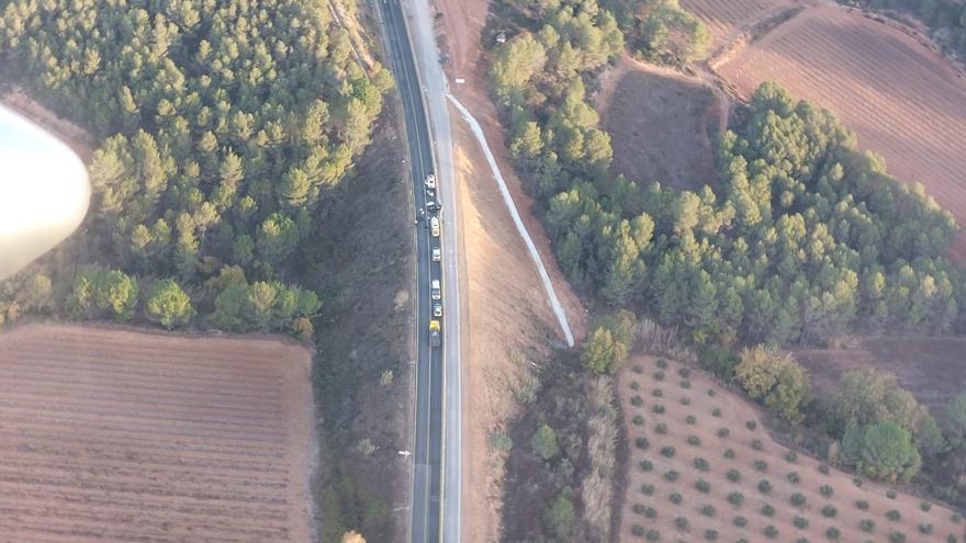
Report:
[[[673,361],[669,361],[667,369],[663,370],[664,380],[659,381],[655,378],[659,371],[655,362],[651,357],[639,357],[619,376],[618,392],[630,441],[629,480],[627,499],[621,510],[620,541],[642,541],[631,533],[634,524],[660,531],[661,541],[705,541],[706,530],[716,530],[719,534],[718,541],[732,542],[740,538],[753,542],[770,541],[763,534],[767,525],[774,525],[778,530],[778,536],[774,541],[787,542],[798,538],[829,541],[825,530],[830,527],[840,531],[839,541],[856,543],[868,539],[889,541],[892,531],[905,533],[906,541],[910,542],[942,542],[950,534],[957,538],[963,534],[964,525],[952,520],[953,511],[950,509],[933,504],[931,510],[925,512],[920,508],[921,500],[917,497],[899,494],[896,499],[889,499],[886,496],[888,487],[870,480],[864,480],[861,487],[856,487],[851,474],[834,468],[829,475],[823,475],[819,471],[820,463],[802,453],[798,453],[794,462],[785,460],[788,449],[770,439],[755,409],[743,398],[697,372],[692,372],[688,377],[690,387],[682,387],[678,375],[682,366]],[[634,366],[640,367],[642,373],[636,373]],[[633,389],[634,386],[638,387],[637,391]],[[653,395],[655,389],[661,391],[661,397]],[[709,391],[715,392],[714,397],[709,395]],[[634,396],[639,396],[642,404],[632,405],[630,400]],[[689,405],[681,404],[682,398],[687,398]],[[655,405],[664,406],[665,412],[654,414],[652,409]],[[721,409],[719,417],[712,415],[715,408]],[[633,423],[633,417],[638,415],[643,417],[643,425]],[[695,417],[694,425],[685,420],[688,416]],[[746,421],[755,421],[755,429],[750,430],[745,426]],[[658,423],[667,426],[665,434],[654,431]],[[720,428],[728,428],[730,433],[724,438],[718,437]],[[689,444],[689,435],[699,438],[700,444]],[[647,450],[636,446],[634,440],[640,437],[649,440]],[[751,445],[753,440],[761,441],[761,450]],[[669,445],[675,449],[675,454],[670,459],[660,453],[662,448]],[[733,459],[723,456],[727,449],[734,451]],[[694,466],[693,461],[697,457],[707,461],[707,472],[700,472]],[[764,472],[754,467],[753,463],[759,460],[766,462]],[[642,461],[652,462],[653,468],[642,471]],[[731,483],[726,476],[732,468],[740,472],[741,478],[738,483]],[[664,474],[672,470],[681,474],[676,482],[664,478]],[[791,472],[798,474],[799,483],[788,480]],[[706,494],[695,487],[700,478],[710,484]],[[768,494],[756,488],[761,479],[771,483],[772,490]],[[653,485],[653,495],[641,493],[642,485]],[[824,498],[819,493],[823,485],[832,487],[833,494],[830,498]],[[673,491],[682,495],[679,505],[674,505],[669,499]],[[744,502],[740,506],[731,505],[727,499],[731,493],[741,493]],[[790,496],[795,493],[806,497],[804,506],[795,507],[790,504]],[[856,500],[867,501],[868,510],[857,509]],[[653,508],[656,517],[648,519],[636,513],[636,504]],[[765,504],[774,507],[773,517],[761,512]],[[715,508],[714,517],[701,513],[705,505]],[[833,518],[825,518],[821,513],[825,505],[836,509]],[[886,518],[886,511],[891,509],[901,513],[899,521],[892,522]],[[735,516],[746,518],[748,525],[735,527]],[[675,527],[677,517],[689,521],[688,530],[681,531]],[[793,523],[795,517],[807,519],[808,527],[797,529]],[[870,533],[860,530],[858,522],[863,519],[875,522]],[[920,523],[931,523],[932,535],[922,535],[918,529]]]

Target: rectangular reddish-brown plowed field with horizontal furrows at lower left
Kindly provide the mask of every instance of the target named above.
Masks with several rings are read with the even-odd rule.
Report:
[[[308,362],[270,340],[0,335],[0,540],[308,541]]]

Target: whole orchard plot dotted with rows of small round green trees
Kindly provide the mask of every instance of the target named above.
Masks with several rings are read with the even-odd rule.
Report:
[[[619,395],[622,542],[963,541],[953,511],[793,454],[743,398],[676,362],[633,359]]]

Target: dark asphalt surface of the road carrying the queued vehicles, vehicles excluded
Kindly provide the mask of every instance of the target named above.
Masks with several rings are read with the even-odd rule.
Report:
[[[409,508],[409,541],[436,543],[441,535],[440,497],[442,494],[442,408],[445,342],[429,347],[429,320],[434,301],[430,283],[442,282],[442,267],[433,261],[434,249],[442,250],[440,238],[429,231],[428,202],[438,202],[439,195],[427,191],[424,180],[434,172],[431,136],[416,72],[412,46],[406,33],[398,0],[380,2],[389,42],[389,54],[402,102],[409,167],[413,177],[413,199],[416,237],[416,421],[413,451],[413,494]],[[440,225],[445,228],[445,225]],[[446,299],[439,301],[446,312]],[[442,319],[438,319],[442,321]],[[446,330],[443,330],[446,331]]]

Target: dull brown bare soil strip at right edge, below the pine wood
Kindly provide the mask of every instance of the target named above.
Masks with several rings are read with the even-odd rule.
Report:
[[[966,389],[966,338],[862,338],[836,349],[802,349],[795,355],[827,391],[847,370],[875,367],[895,373],[916,398],[942,416],[950,398]]]

